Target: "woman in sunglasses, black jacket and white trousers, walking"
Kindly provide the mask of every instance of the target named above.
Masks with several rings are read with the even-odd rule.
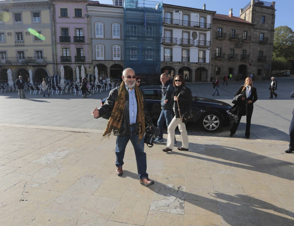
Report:
[[[182,147],[178,147],[178,150],[188,151],[189,149],[188,134],[186,130],[186,125],[185,123],[182,122],[180,118],[178,106],[180,108],[181,114],[189,112],[191,110],[191,103],[193,101],[192,92],[191,92],[191,89],[185,86],[185,80],[183,79],[183,76],[180,76],[180,75],[176,75],[174,77],[173,86],[175,87],[175,90],[173,91],[173,94],[172,94],[173,98],[172,98],[171,106],[173,107],[173,113],[175,116],[171,120],[171,123],[168,125],[166,148],[162,150],[164,152],[172,151],[173,145],[174,145],[175,129],[178,126],[182,136]]]

